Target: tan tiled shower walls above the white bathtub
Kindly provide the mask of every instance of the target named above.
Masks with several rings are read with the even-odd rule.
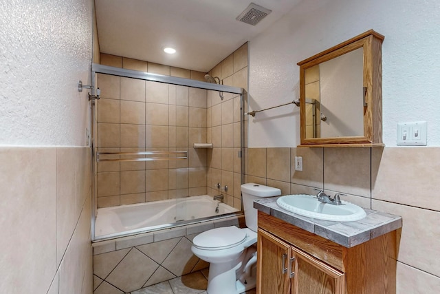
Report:
[[[204,73],[101,54],[101,63],[204,81]],[[248,87],[248,44],[214,67]],[[98,74],[98,151],[188,151],[188,160],[98,162],[98,207],[223,193],[241,209],[240,96]],[[194,149],[193,143],[213,143]],[[215,185],[221,184],[221,189]],[[228,191],[224,187],[228,186]]]

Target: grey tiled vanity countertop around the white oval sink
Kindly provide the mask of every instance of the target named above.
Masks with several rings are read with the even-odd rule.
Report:
[[[307,218],[278,207],[276,204],[277,199],[278,197],[256,200],[254,201],[254,208],[347,248],[362,244],[401,227],[400,216],[371,209],[364,209],[366,217],[356,222],[331,222]]]

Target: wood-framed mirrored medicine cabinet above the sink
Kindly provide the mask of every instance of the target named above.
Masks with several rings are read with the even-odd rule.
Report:
[[[382,145],[383,39],[371,30],[298,63],[300,146]]]

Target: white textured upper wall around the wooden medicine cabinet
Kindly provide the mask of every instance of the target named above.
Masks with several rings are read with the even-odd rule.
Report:
[[[250,41],[250,107],[298,99],[296,63],[372,28],[385,36],[384,143],[396,145],[398,122],[427,120],[428,145],[438,146],[439,14],[436,0],[303,1]],[[293,106],[259,114],[250,119],[250,147],[295,147],[299,121],[299,109]]]

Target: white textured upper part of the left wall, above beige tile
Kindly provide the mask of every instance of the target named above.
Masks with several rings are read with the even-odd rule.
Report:
[[[86,143],[92,1],[1,0],[0,145]]]

